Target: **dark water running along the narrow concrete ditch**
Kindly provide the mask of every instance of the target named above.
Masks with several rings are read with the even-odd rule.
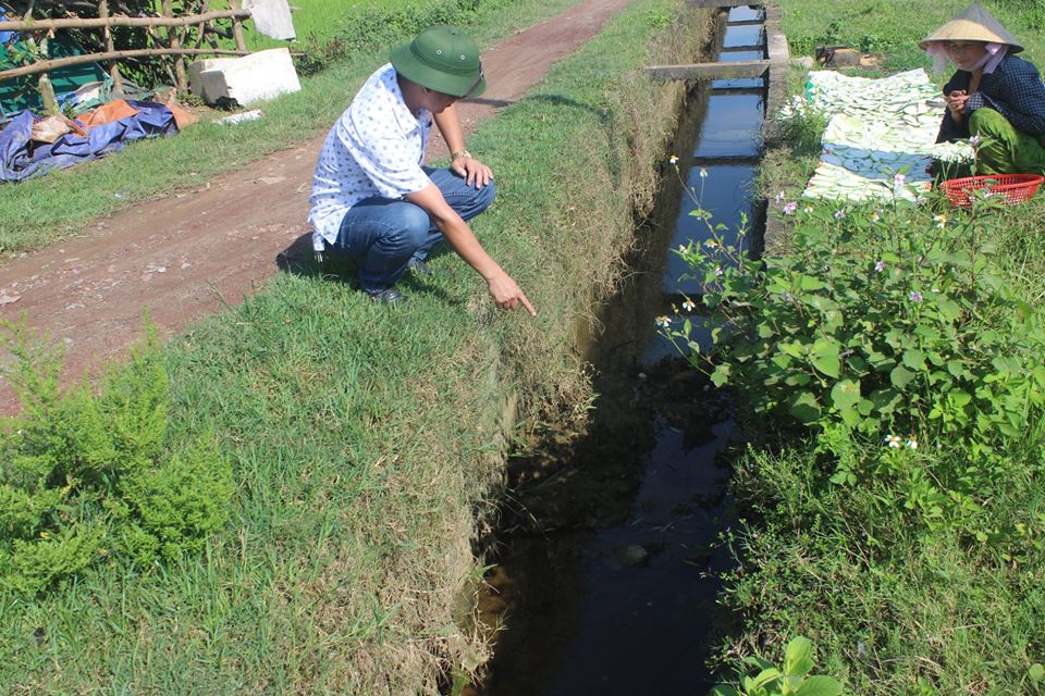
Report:
[[[764,45],[751,24],[759,16],[734,10],[724,45]],[[693,696],[714,684],[705,661],[725,620],[718,576],[733,564],[718,540],[734,523],[724,455],[735,428],[728,401],[654,322],[699,302],[673,251],[710,237],[691,210],[711,210],[727,241],[758,236],[751,185],[764,94],[761,79],[723,80],[690,100],[675,144],[679,176],[666,167],[654,222],[589,346],[599,395],[590,425],[552,433],[512,467],[483,598],[501,631],[489,679],[467,694]]]

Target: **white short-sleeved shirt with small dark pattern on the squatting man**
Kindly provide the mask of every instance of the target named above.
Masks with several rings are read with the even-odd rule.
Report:
[[[432,116],[415,117],[403,101],[391,63],[380,67],[356,94],[327,135],[312,175],[312,247],[337,238],[349,208],[367,198],[403,198],[431,179],[421,169]]]

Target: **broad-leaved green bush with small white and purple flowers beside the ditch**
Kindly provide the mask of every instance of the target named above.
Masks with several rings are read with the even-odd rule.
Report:
[[[980,505],[1041,443],[1045,408],[1043,315],[999,271],[992,211],[788,203],[790,249],[764,262],[712,229],[679,253],[703,283],[713,346],[702,353],[691,319],[672,337],[755,413],[817,432],[836,484],[886,476],[925,523],[986,540]]]

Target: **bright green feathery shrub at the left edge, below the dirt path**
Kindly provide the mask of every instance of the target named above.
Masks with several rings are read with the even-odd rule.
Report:
[[[61,353],[7,324],[22,412],[3,422],[0,587],[35,594],[91,562],[196,549],[228,518],[233,486],[213,446],[168,452],[167,371],[155,331],[131,362],[60,388]]]

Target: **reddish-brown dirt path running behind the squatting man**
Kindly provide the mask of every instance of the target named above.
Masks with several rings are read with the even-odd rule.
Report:
[[[463,102],[468,133],[519,99],[549,67],[594,35],[630,0],[583,0],[483,52],[489,88]],[[445,153],[438,137],[428,156]],[[0,316],[67,347],[66,378],[121,356],[148,308],[162,335],[238,303],[296,254],[307,253],[308,195],[322,138],[276,152],[188,192],[97,222],[85,236],[0,269]],[[116,156],[119,157],[119,156]],[[0,386],[0,410],[16,408]]]

